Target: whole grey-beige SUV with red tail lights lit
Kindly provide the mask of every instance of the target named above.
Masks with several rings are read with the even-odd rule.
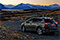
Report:
[[[58,23],[51,17],[32,17],[21,24],[22,31],[36,31],[39,35],[43,33],[57,32]]]

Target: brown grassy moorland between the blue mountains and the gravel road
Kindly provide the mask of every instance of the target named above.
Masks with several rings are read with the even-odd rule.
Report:
[[[24,20],[25,17],[28,16],[50,16],[54,17],[56,21],[60,21],[60,9],[39,9],[39,10],[13,10],[13,11],[6,11],[2,10],[0,13],[1,20]]]

